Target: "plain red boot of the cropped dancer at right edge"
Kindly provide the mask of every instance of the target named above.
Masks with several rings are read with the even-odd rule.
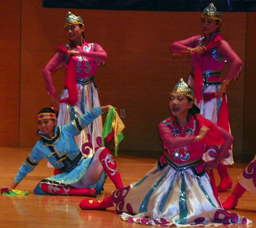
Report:
[[[238,199],[242,197],[242,195],[245,193],[246,189],[238,183],[236,187],[234,187],[234,190],[232,194],[226,199],[226,201],[222,204],[222,207],[225,210],[232,210],[238,205]]]

